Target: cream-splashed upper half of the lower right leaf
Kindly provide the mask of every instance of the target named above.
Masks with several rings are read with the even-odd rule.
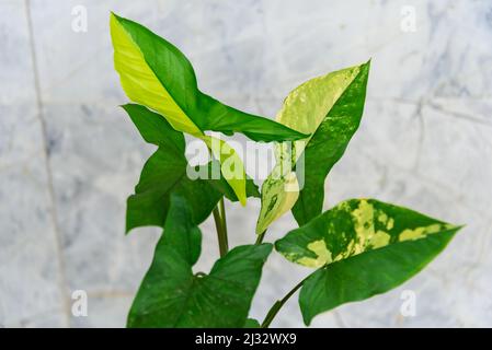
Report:
[[[288,233],[277,241],[277,249],[293,262],[319,268],[391,244],[457,229],[375,199],[351,199]]]

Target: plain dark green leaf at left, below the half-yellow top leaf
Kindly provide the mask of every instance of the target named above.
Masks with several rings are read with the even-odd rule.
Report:
[[[123,108],[142,138],[159,147],[144,165],[135,195],[128,198],[126,232],[146,225],[163,226],[171,194],[191,199],[192,217],[196,224],[210,214],[222,196],[232,201],[238,200],[220,171],[215,171],[220,168],[217,162],[197,168],[196,173],[206,175],[205,178],[190,177],[191,167],[184,155],[183,135],[175,131],[164,118],[140,105],[129,104]],[[249,197],[259,196],[251,179],[247,180],[245,192]]]

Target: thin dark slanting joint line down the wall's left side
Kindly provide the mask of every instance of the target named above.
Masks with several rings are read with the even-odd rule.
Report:
[[[66,265],[64,259],[64,240],[61,237],[61,232],[58,225],[58,213],[56,208],[56,196],[55,196],[55,188],[53,183],[53,172],[52,166],[49,163],[49,154],[47,152],[47,129],[46,129],[46,121],[44,119],[43,115],[43,100],[41,94],[41,84],[39,84],[39,72],[37,69],[37,57],[36,57],[36,47],[34,42],[34,30],[33,30],[33,21],[32,21],[32,13],[31,13],[31,1],[24,0],[24,10],[25,15],[27,20],[27,30],[28,30],[28,36],[30,36],[30,46],[31,46],[31,60],[33,62],[33,73],[34,73],[34,88],[36,92],[36,105],[37,105],[37,117],[39,119],[41,129],[42,129],[42,140],[43,140],[43,152],[45,156],[45,170],[47,174],[47,187],[48,187],[48,195],[49,199],[52,201],[52,221],[53,221],[53,229],[55,231],[55,242],[56,242],[56,250],[57,250],[57,260],[58,260],[58,268],[59,268],[59,277],[58,277],[58,288],[61,292],[61,307],[64,313],[64,322],[66,327],[70,327],[70,316],[69,316],[69,300],[66,296],[66,289],[68,287],[67,283],[67,275],[66,275]]]

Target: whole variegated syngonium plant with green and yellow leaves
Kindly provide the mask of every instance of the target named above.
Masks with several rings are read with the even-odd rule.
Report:
[[[135,103],[123,108],[141,137],[157,145],[128,198],[126,231],[163,228],[128,327],[268,327],[299,289],[300,311],[309,325],[320,313],[407,281],[460,229],[376,199],[350,199],[322,212],[325,178],[361,122],[370,62],[296,88],[273,121],[201,92],[186,57],[140,24],[112,14],[111,36],[115,69]],[[234,150],[206,131],[276,142],[277,165],[261,194]],[[218,177],[186,175],[184,135],[205,142],[210,161],[198,167],[218,165]],[[254,244],[229,250],[225,198],[244,206],[248,197],[261,198]],[[299,228],[274,244],[263,243],[268,225],[289,210]],[[220,257],[208,275],[195,273],[202,253],[198,225],[210,213]],[[273,247],[312,273],[259,323],[248,316]]]

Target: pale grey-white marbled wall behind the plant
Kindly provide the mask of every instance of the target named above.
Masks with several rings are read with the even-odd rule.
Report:
[[[88,32],[71,10],[88,10]],[[415,32],[402,31],[402,8]],[[376,197],[467,226],[401,288],[316,318],[317,327],[492,326],[492,1],[0,0],[0,325],[121,327],[158,231],[124,235],[125,199],[152,151],[124,112],[108,13],[175,43],[201,88],[274,116],[299,83],[373,58],[362,127],[327,186],[328,206]],[[229,206],[252,242],[259,201]],[[279,237],[286,215],[272,226]],[[204,226],[206,270],[217,247]],[[272,255],[252,315],[308,271]],[[73,317],[71,292],[89,294]],[[416,315],[400,314],[401,292]],[[302,326],[296,298],[274,326]]]

